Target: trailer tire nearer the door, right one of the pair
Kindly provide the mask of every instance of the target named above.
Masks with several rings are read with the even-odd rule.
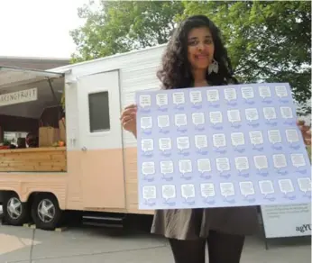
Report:
[[[52,231],[58,227],[62,217],[59,202],[54,195],[38,194],[32,203],[32,220],[41,230]]]

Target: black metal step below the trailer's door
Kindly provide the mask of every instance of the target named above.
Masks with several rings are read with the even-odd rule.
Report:
[[[107,228],[124,228],[124,214],[86,213],[82,216],[82,223]]]

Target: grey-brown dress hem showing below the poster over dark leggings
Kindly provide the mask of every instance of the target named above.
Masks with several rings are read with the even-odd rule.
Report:
[[[210,230],[252,235],[259,230],[257,207],[156,210],[151,225],[151,233],[177,240],[205,239]]]

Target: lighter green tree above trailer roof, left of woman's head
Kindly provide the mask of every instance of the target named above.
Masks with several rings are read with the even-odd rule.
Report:
[[[70,32],[78,53],[73,62],[96,59],[166,43],[174,17],[183,13],[181,2],[100,1],[78,9],[86,23]]]

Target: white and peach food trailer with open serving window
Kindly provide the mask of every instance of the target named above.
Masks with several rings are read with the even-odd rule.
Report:
[[[0,147],[5,222],[51,230],[66,211],[115,222],[153,213],[138,210],[136,141],[119,117],[136,91],[159,88],[164,48],[50,70],[0,66],[0,142],[29,135]]]

